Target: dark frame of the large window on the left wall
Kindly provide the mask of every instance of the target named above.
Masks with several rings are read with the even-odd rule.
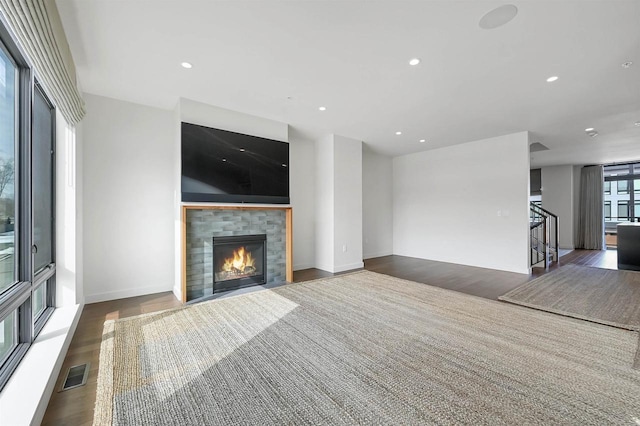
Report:
[[[15,195],[15,223],[14,223],[14,262],[15,282],[0,293],[0,321],[9,315],[15,315],[16,342],[13,349],[3,358],[0,365],[0,391],[9,381],[9,378],[18,367],[29,347],[42,330],[47,320],[55,310],[55,108],[46,91],[37,85],[33,67],[26,60],[26,55],[21,51],[15,38],[8,30],[8,26],[0,15],[0,48],[2,48],[16,68],[16,105],[15,105],[15,161],[14,161],[14,195]],[[38,87],[37,87],[38,86]],[[34,102],[34,93],[40,90],[44,99],[51,107],[52,129],[52,170],[51,170],[51,197],[52,197],[52,260],[40,273],[35,274],[33,248],[33,192],[32,192],[32,134],[33,115],[31,113]],[[38,318],[33,318],[32,301],[33,293],[40,285],[45,285],[46,307]]]

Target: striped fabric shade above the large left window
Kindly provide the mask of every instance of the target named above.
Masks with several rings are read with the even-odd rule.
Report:
[[[45,2],[0,0],[0,12],[58,110],[69,124],[80,122],[85,115],[84,101],[60,52]]]

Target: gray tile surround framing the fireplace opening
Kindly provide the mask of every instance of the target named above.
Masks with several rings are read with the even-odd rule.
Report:
[[[283,210],[189,209],[185,222],[187,301],[213,294],[213,237],[266,234],[266,282],[286,280]]]

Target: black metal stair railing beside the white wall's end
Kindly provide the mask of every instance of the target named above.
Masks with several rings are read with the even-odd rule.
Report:
[[[544,261],[545,269],[558,261],[558,216],[535,203],[529,203],[529,245],[531,266]]]

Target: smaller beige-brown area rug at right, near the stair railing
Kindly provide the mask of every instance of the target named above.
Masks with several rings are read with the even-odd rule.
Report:
[[[565,265],[499,299],[600,324],[640,330],[640,272]]]

